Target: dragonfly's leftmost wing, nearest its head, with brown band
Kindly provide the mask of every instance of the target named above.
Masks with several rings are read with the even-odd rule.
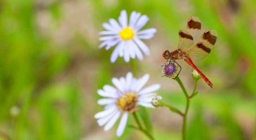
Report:
[[[186,51],[194,43],[193,37],[187,31],[180,30],[179,31],[179,38],[180,38],[180,41],[179,41],[178,48],[183,50],[183,51]]]

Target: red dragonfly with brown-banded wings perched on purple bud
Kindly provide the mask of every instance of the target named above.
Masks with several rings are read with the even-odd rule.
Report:
[[[187,21],[187,29],[179,31],[178,49],[171,52],[166,50],[162,56],[167,59],[167,61],[169,60],[169,64],[172,63],[173,65],[177,63],[175,60],[184,59],[185,62],[191,65],[205,82],[213,88],[211,81],[197,68],[193,61],[208,56],[216,40],[217,31],[208,29],[202,34],[200,19],[196,16],[192,16]]]

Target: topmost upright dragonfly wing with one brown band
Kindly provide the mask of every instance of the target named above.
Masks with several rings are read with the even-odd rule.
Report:
[[[197,16],[192,16],[187,21],[187,32],[192,35],[194,42],[197,42],[201,35],[201,21]]]

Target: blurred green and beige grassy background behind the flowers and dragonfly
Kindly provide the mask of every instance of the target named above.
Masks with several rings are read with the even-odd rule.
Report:
[[[178,83],[161,78],[162,52],[178,46],[178,31],[191,16],[202,29],[216,29],[218,39],[205,59],[195,62],[212,81],[199,81],[199,94],[188,114],[189,140],[256,139],[256,1],[255,0],[1,0],[0,1],[0,139],[134,140],[147,139],[116,126],[108,132],[96,123],[96,90],[124,76],[131,65],[98,49],[102,23],[122,9],[149,16],[144,28],[158,31],[146,44],[151,56],[136,60],[138,76],[161,84],[166,103],[184,110]],[[183,60],[180,78],[193,90],[192,68]],[[168,109],[148,109],[157,140],[180,140],[182,119]],[[129,124],[134,120],[129,116]]]

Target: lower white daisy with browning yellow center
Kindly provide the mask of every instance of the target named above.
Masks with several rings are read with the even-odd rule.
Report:
[[[158,90],[160,85],[153,84],[142,89],[148,79],[148,74],[137,79],[131,72],[128,72],[126,78],[112,78],[115,87],[104,85],[103,90],[98,90],[98,94],[105,97],[98,100],[99,105],[105,105],[104,111],[98,112],[94,116],[98,119],[98,125],[106,124],[104,130],[108,131],[122,116],[116,131],[116,135],[120,137],[127,123],[128,112],[137,111],[137,105],[154,108],[151,101],[156,96],[154,91]]]

